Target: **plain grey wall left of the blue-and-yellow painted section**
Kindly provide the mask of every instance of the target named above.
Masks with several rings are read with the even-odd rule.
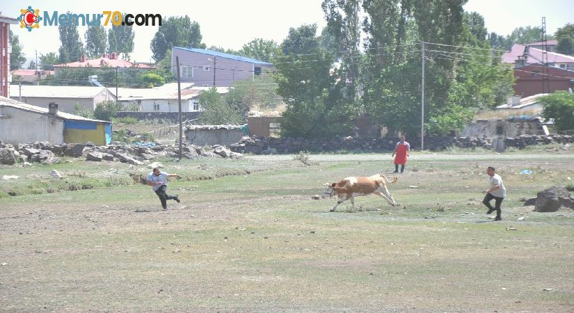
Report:
[[[4,143],[64,142],[64,121],[10,106],[0,106],[0,139]]]

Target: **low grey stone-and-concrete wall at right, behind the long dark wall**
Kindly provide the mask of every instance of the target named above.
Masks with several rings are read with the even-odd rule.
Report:
[[[461,136],[492,139],[543,134],[541,123],[536,121],[477,120],[468,124]]]

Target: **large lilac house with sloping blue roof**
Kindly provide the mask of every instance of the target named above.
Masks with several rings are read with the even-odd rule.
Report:
[[[198,87],[228,87],[234,81],[253,78],[273,67],[271,63],[255,58],[209,49],[173,47],[171,64],[174,73],[177,56],[180,58],[181,81]]]

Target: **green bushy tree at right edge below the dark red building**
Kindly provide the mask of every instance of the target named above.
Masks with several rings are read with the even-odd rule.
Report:
[[[545,118],[553,118],[558,131],[574,130],[574,94],[557,91],[540,98]]]

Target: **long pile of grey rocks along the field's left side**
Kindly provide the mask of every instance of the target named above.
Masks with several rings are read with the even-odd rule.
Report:
[[[47,142],[9,145],[0,143],[0,164],[13,165],[24,162],[58,163],[59,157],[85,157],[88,161],[120,161],[141,165],[145,160],[157,157],[177,158],[179,146],[149,143],[129,145],[112,142],[110,145],[95,146],[90,144],[52,145]],[[221,145],[214,145],[204,150],[197,145],[182,145],[182,157],[196,159],[199,157],[218,157],[240,159],[243,154],[232,152]]]

